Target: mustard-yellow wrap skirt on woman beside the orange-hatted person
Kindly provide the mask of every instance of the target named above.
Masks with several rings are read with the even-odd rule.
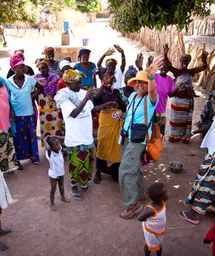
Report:
[[[119,133],[123,120],[116,121],[112,115],[115,111],[101,111],[99,114],[98,146],[96,157],[112,163],[121,162],[122,147],[118,145]]]

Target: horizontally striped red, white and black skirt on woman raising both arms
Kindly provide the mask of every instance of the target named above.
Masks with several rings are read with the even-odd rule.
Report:
[[[179,142],[185,134],[191,133],[194,101],[173,97],[169,141]],[[183,141],[183,142],[189,142]]]

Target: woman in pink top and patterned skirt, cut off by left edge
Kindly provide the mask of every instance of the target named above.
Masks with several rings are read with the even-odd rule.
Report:
[[[0,171],[3,173],[18,168],[11,135],[10,108],[10,94],[7,93],[7,83],[0,77]]]

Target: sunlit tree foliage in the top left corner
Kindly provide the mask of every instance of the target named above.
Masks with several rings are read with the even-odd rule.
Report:
[[[20,22],[36,22],[39,13],[34,2],[30,0],[0,0],[0,24]]]

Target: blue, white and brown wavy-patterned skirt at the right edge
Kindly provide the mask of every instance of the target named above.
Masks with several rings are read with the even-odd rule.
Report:
[[[192,209],[199,214],[205,211],[215,212],[215,154],[207,154],[199,172],[196,175],[191,193],[185,199],[185,204],[192,205]]]

